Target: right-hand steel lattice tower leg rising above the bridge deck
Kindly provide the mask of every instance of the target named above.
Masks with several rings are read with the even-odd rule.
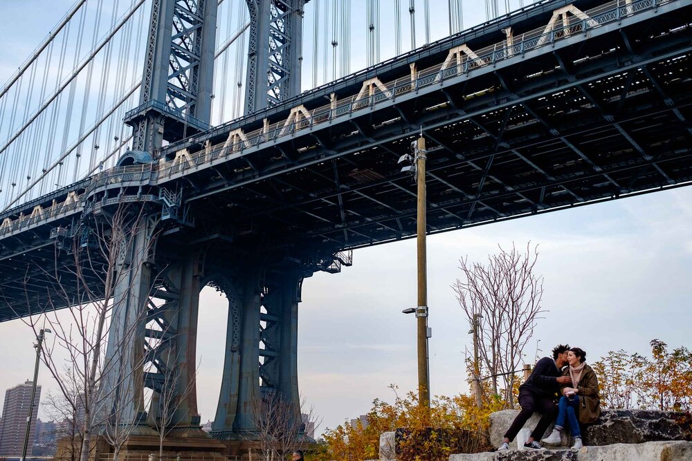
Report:
[[[246,0],[250,46],[245,113],[300,94],[302,17],[307,0]]]

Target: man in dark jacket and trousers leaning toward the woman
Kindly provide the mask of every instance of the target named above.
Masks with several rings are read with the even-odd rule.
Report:
[[[540,413],[540,421],[538,421],[536,429],[531,433],[529,440],[524,444],[524,448],[543,449],[538,440],[543,437],[543,433],[548,429],[548,426],[557,414],[555,399],[559,386],[560,384],[569,385],[572,383],[572,378],[569,376],[561,376],[562,368],[567,365],[567,352],[569,350],[570,346],[563,346],[562,344],[554,348],[553,358],[543,357],[543,359],[540,359],[534,366],[534,371],[529,376],[529,379],[519,386],[521,411],[514,418],[514,422],[509,426],[507,433],[504,434],[504,442],[502,442],[498,450],[509,449],[509,442],[514,440],[520,429],[534,414],[534,411]]]

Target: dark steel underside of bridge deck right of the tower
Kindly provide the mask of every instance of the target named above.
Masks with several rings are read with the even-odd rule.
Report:
[[[683,185],[690,31],[669,27],[581,41],[188,175],[194,214],[277,245],[412,236],[415,184],[397,160],[421,127],[428,232]]]

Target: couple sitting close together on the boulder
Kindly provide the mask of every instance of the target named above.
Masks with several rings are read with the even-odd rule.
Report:
[[[552,359],[543,357],[538,361],[529,379],[519,388],[521,411],[504,434],[504,442],[498,450],[509,449],[509,442],[514,440],[534,411],[541,417],[524,444],[525,449],[542,450],[538,440],[553,421],[554,429],[542,440],[543,444],[560,445],[560,433],[567,424],[574,438],[572,449],[581,449],[579,424],[595,422],[601,414],[599,382],[585,359],[586,352],[580,348],[560,345],[553,349]],[[556,406],[558,395],[561,397]]]

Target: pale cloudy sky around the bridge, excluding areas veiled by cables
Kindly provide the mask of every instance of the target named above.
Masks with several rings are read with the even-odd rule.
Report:
[[[12,19],[6,21],[6,43],[0,48],[0,82],[10,77],[71,3],[0,2],[0,15]],[[438,35],[433,38],[440,38],[447,30],[442,8],[447,2],[430,3],[432,30]],[[390,1],[381,4],[385,8]],[[354,17],[364,14],[364,5],[365,1],[354,1]],[[484,18],[482,2],[465,1],[464,8],[465,26]],[[306,17],[310,15],[307,9]],[[384,16],[381,20],[391,28],[392,21]],[[402,17],[402,24],[407,22],[408,17]],[[383,27],[383,50],[393,49],[391,40],[384,38],[391,37],[387,27]],[[355,23],[353,29],[357,32]],[[351,70],[365,65],[363,35],[353,33]],[[305,46],[311,50],[309,36]],[[403,41],[408,41],[406,35]],[[383,51],[381,58],[387,57]],[[307,88],[311,64],[305,66]],[[486,261],[489,254],[498,252],[498,245],[523,247],[531,242],[540,253],[536,270],[545,279],[543,308],[547,312],[525,350],[527,362],[534,361],[537,352],[547,355],[565,342],[586,350],[590,361],[621,348],[646,354],[648,342],[655,338],[671,347],[692,348],[686,327],[692,321],[691,225],[692,188],[683,187],[430,236],[432,394],[468,390],[464,357],[471,337],[450,285],[459,277],[459,258]],[[353,256],[354,265],[340,274],[318,273],[303,284],[299,386],[307,404],[323,419],[318,431],[366,413],[373,399],[392,401],[390,384],[399,386],[400,393],[417,385],[416,322],[401,313],[416,303],[415,241],[365,248]],[[224,298],[214,290],[203,290],[197,343],[197,393],[203,422],[213,418],[219,394],[226,308]],[[0,323],[0,392],[30,379],[33,340],[21,321]],[[45,370],[39,382],[44,393],[55,393]],[[39,411],[39,415],[45,413]]]

